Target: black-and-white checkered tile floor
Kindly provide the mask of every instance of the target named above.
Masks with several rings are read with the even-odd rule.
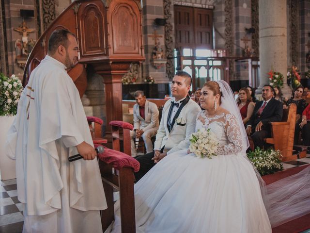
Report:
[[[310,164],[308,157],[283,163],[283,168]],[[21,233],[23,230],[23,204],[17,200],[16,180],[0,182],[0,233]],[[114,193],[114,200],[119,199],[119,193]],[[303,232],[310,233],[310,229]]]

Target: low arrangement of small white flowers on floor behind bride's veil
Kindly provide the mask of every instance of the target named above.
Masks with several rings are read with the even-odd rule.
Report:
[[[281,164],[282,154],[279,150],[273,150],[271,148],[262,150],[257,147],[254,151],[248,152],[247,155],[261,176],[273,174],[283,169]]]

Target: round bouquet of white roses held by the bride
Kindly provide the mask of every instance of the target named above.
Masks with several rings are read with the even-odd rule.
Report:
[[[217,155],[217,136],[210,129],[202,128],[197,133],[192,133],[189,141],[189,150],[197,157],[211,159],[212,156]]]

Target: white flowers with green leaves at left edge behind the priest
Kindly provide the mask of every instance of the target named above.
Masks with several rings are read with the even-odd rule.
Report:
[[[23,86],[14,74],[8,78],[0,73],[0,116],[16,115],[22,91]]]

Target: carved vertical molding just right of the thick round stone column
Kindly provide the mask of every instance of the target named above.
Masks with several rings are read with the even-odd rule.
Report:
[[[291,31],[291,61],[292,66],[298,65],[299,57],[299,0],[289,0],[290,7],[290,31]]]

